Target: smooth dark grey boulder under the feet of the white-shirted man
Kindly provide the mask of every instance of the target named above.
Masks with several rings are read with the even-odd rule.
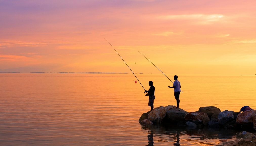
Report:
[[[167,119],[172,122],[185,121],[185,115],[187,111],[183,109],[170,109],[167,111]]]

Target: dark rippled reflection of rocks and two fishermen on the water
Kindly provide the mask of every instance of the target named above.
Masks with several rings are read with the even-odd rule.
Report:
[[[177,127],[172,125],[143,125],[141,130],[147,133],[148,146],[152,145],[215,145],[220,142],[235,139],[237,130],[193,129],[188,127]],[[146,137],[145,137],[146,138]]]

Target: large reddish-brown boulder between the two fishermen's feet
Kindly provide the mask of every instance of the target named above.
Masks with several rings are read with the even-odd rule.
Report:
[[[175,109],[175,106],[168,105],[167,107],[157,107],[153,109],[150,113],[148,113],[148,120],[155,123],[161,123],[163,122],[164,117],[166,116],[166,112],[170,109]]]

